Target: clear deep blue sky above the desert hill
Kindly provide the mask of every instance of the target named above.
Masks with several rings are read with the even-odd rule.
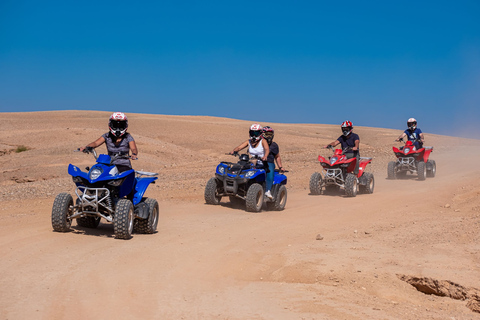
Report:
[[[478,138],[480,1],[0,0],[0,111],[73,109]]]

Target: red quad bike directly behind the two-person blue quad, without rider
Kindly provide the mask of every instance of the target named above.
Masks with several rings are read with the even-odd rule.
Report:
[[[375,180],[373,173],[364,172],[367,164],[372,162],[372,158],[360,157],[360,164],[358,174],[355,175],[355,165],[357,158],[347,159],[345,153],[350,148],[333,149],[333,156],[325,159],[322,156],[318,156],[318,161],[323,167],[323,177],[320,173],[314,172],[310,177],[310,193],[311,194],[323,194],[331,192],[335,193],[340,188],[345,190],[347,197],[355,197],[360,191],[362,193],[373,193],[375,186]]]

